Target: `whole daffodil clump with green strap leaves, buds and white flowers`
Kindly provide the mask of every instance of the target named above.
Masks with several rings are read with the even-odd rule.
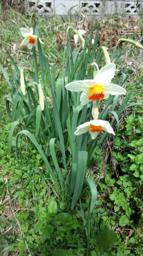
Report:
[[[112,61],[114,54],[110,60],[104,46],[96,48],[100,26],[93,40],[95,26],[90,32],[91,38],[85,37],[85,30],[68,28],[67,34],[74,33],[75,42],[79,38],[82,47],[79,46],[79,50],[76,44],[76,49],[72,49],[71,41],[67,42],[70,36],[66,35],[61,77],[55,76],[56,67],[48,62],[35,27],[30,30],[20,28],[24,37],[21,45],[26,45],[30,50],[33,48],[32,71],[28,66],[18,67],[13,59],[16,69],[12,77],[8,78],[0,64],[11,89],[11,95],[7,97],[7,110],[12,120],[8,152],[11,152],[15,139],[18,159],[18,153],[25,147],[24,139],[27,143],[28,139],[31,140],[45,163],[48,182],[59,202],[66,202],[65,205],[71,205],[73,209],[82,194],[84,181],[87,189],[90,186],[90,214],[97,190],[93,180],[86,176],[86,171],[106,136],[115,136],[114,123],[119,126],[118,116],[131,95],[129,92],[118,104],[118,97],[126,93],[123,87],[127,75],[122,74],[122,70],[116,72],[116,65]],[[101,66],[100,70],[98,66]],[[50,100],[49,88],[52,95]],[[13,138],[15,128],[19,132]]]

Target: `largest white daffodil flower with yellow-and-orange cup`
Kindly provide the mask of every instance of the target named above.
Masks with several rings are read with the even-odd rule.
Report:
[[[82,92],[80,95],[81,105],[86,105],[90,100],[102,100],[111,95],[125,94],[126,90],[111,80],[115,75],[114,63],[101,68],[93,80],[79,80],[67,84],[65,87],[72,92]]]

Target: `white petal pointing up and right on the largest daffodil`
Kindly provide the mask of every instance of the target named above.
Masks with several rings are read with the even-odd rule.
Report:
[[[108,64],[101,68],[94,78],[96,84],[109,84],[115,75],[115,70],[116,66],[114,63]]]

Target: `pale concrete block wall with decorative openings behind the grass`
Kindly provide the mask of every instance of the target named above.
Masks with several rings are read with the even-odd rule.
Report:
[[[68,15],[82,12],[86,15],[102,16],[103,14],[143,13],[143,0],[136,6],[137,0],[25,0],[27,13],[39,15]]]

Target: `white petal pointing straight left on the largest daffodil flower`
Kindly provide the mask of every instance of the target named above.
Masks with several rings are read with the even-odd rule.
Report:
[[[67,90],[70,90],[72,92],[83,92],[86,89],[89,89],[90,86],[94,86],[95,81],[94,80],[78,80],[73,81],[65,86]]]

